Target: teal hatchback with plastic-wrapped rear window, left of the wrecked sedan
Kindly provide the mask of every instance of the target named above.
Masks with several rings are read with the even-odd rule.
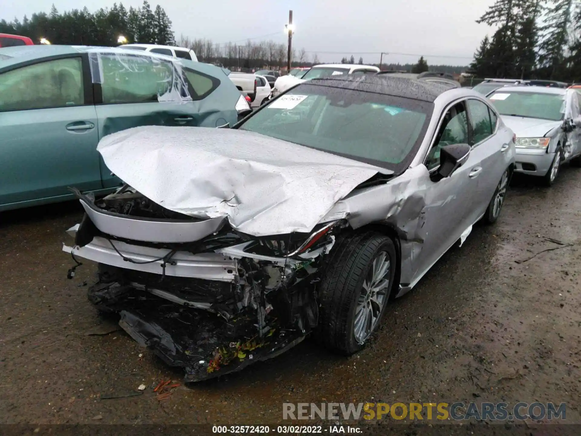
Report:
[[[249,110],[216,66],[119,48],[0,49],[0,211],[105,194],[96,146],[138,126],[220,127]]]

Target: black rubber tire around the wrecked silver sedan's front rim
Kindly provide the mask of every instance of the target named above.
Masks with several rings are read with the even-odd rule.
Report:
[[[398,267],[393,241],[378,233],[352,234],[338,238],[329,253],[318,287],[320,310],[315,331],[315,337],[327,348],[345,355],[363,348],[367,338],[358,342],[355,337],[356,309],[358,299],[365,299],[363,283],[369,278],[368,274],[372,273],[374,260],[381,262],[379,257],[382,253],[385,253],[386,258],[389,257],[389,273],[385,273],[385,277],[389,275],[389,284],[383,288],[385,298],[376,320],[371,319],[372,328],[367,338],[381,325],[392,292]],[[369,307],[372,307],[371,302]]]

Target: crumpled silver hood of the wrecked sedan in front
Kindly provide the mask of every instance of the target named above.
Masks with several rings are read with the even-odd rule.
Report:
[[[107,135],[107,167],[164,208],[227,216],[254,236],[310,232],[337,201],[389,170],[257,133],[145,126]]]

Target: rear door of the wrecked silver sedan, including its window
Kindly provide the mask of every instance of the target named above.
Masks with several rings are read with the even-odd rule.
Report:
[[[473,192],[474,208],[469,218],[474,222],[486,212],[498,182],[507,169],[505,153],[510,148],[511,138],[498,132],[497,117],[486,103],[469,99],[467,106],[471,127],[470,155],[471,160],[476,162],[469,173],[469,177],[476,181]]]

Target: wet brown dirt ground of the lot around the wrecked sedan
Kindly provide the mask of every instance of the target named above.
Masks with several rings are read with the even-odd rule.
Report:
[[[60,248],[80,205],[0,213],[0,423],[267,424],[283,402],[367,401],[566,402],[567,421],[581,423],[580,194],[568,166],[553,188],[515,178],[496,226],[475,226],[392,303],[358,355],[304,341],[166,401],[152,388],[180,370],[123,331],[88,335],[114,324],[85,295],[95,265],[66,278]],[[101,398],[140,384],[143,395]]]

